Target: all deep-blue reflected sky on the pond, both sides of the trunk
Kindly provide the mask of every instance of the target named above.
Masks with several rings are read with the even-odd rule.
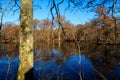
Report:
[[[0,60],[0,80],[14,80],[17,75],[19,58]],[[63,62],[62,62],[63,63]],[[9,66],[10,64],[10,66]],[[9,72],[8,72],[9,71]],[[120,65],[107,73],[107,80],[120,79]],[[56,61],[38,60],[33,68],[34,80],[101,80],[94,66],[85,55],[74,54],[61,65]]]

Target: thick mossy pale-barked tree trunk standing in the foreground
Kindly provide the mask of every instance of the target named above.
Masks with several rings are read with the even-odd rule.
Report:
[[[33,67],[33,9],[32,0],[21,0],[20,48],[18,80],[25,79],[25,73]]]

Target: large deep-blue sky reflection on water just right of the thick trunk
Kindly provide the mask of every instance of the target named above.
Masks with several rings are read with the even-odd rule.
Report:
[[[72,55],[64,63],[61,62],[62,65],[57,64],[56,59],[50,62],[44,60],[35,62],[35,80],[94,80],[96,78],[94,67],[85,55]]]

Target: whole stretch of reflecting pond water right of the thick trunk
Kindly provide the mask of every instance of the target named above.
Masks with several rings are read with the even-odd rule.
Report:
[[[54,45],[37,45],[41,52],[35,58],[35,80],[112,80],[113,74],[113,80],[120,80],[119,45],[81,45],[81,55],[74,43]]]

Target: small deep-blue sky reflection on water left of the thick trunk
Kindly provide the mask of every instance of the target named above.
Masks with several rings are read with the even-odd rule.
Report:
[[[19,58],[0,60],[0,80],[15,80],[18,71]]]

